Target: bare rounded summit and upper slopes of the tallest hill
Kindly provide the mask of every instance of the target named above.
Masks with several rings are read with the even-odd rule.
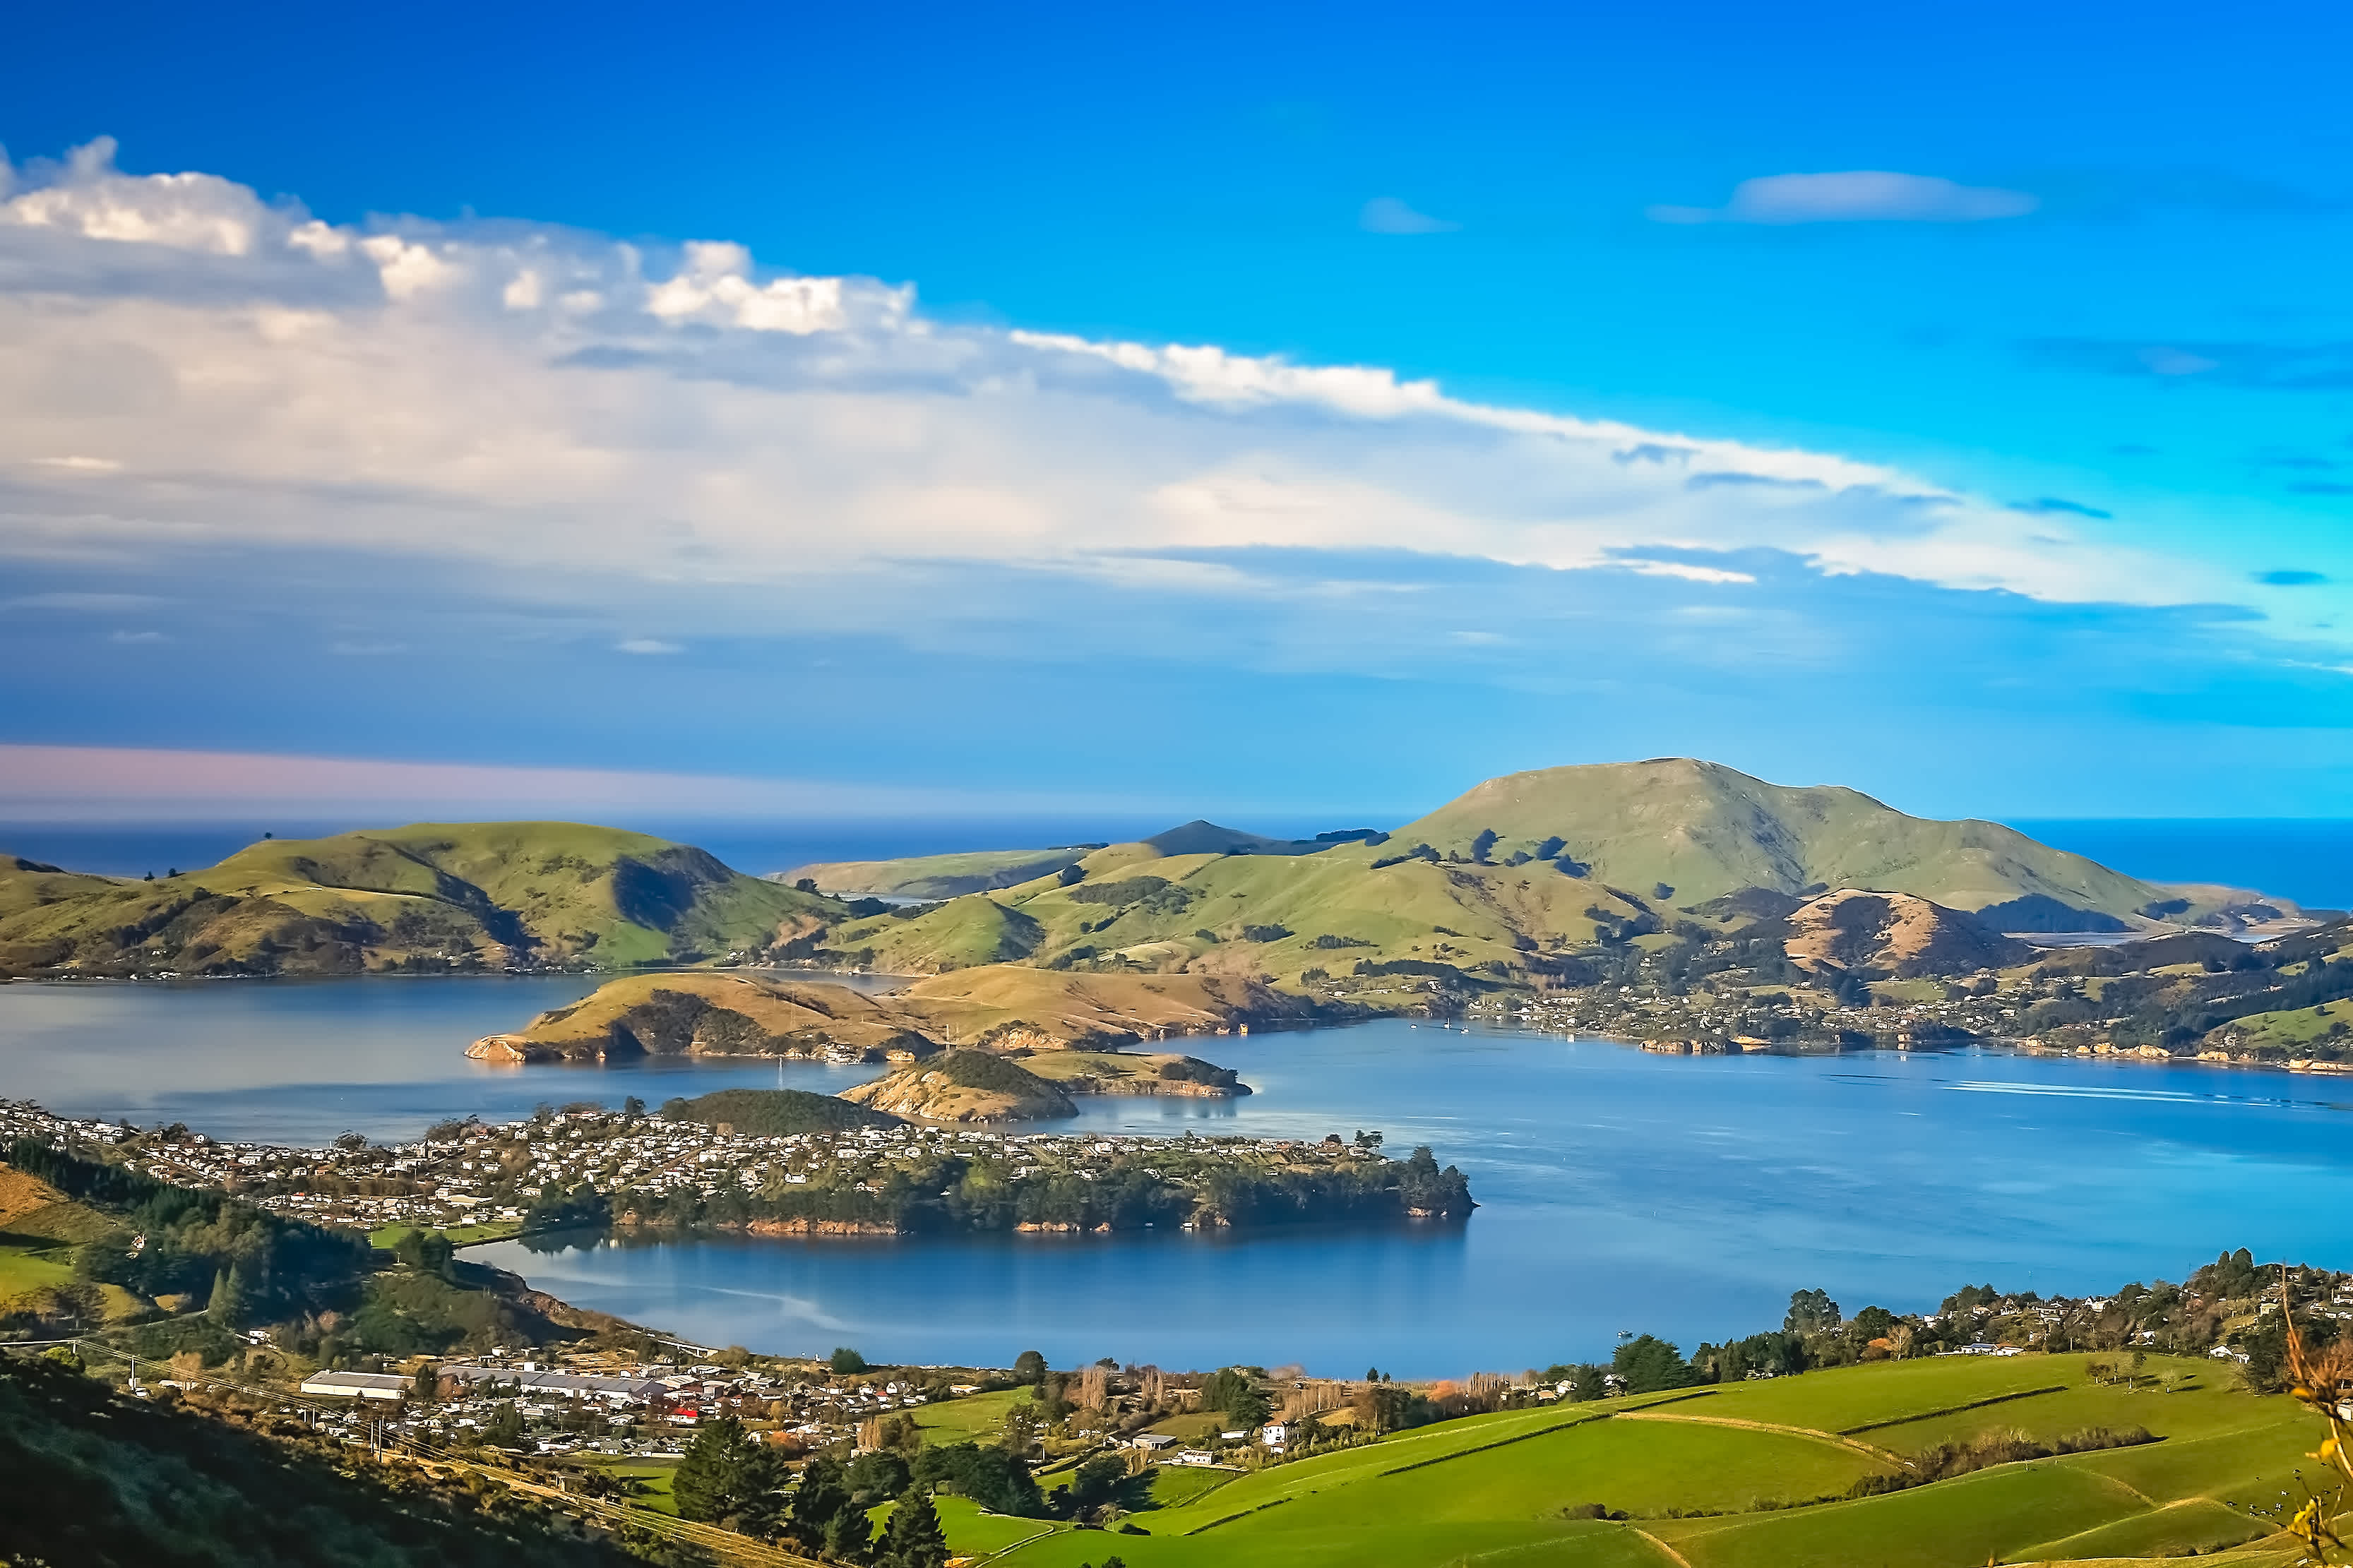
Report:
[[[2167,898],[2000,823],[1904,816],[1859,790],[1772,785],[1689,757],[1489,778],[1393,839],[1468,856],[1482,832],[1497,835],[1494,860],[1560,839],[1560,853],[1591,865],[1598,882],[1642,893],[1664,884],[1678,905],[1746,886],[1824,886],[1913,893],[1953,910],[2040,893],[2122,919]]]

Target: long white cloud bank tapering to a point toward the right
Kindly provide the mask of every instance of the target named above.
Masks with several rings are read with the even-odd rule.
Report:
[[[1828,451],[1466,402],[1384,367],[946,327],[911,287],[774,275],[725,242],[325,226],[212,176],[120,174],[104,146],[0,200],[0,261],[19,254],[38,268],[0,287],[0,552],[365,548],[513,592],[558,592],[560,564],[838,614],[824,583],[908,562],[1264,592],[1169,564],[1235,548],[1708,585],[1744,574],[1692,552],[1779,548],[2139,602],[2235,581]],[[89,364],[106,395],[59,400]]]

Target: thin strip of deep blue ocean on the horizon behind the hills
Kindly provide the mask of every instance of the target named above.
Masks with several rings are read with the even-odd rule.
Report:
[[[282,839],[346,832],[360,823],[5,823],[0,853],[111,877],[195,870],[273,830]],[[372,823],[374,825],[374,823]],[[1033,849],[1134,839],[1162,820],[1033,823],[624,823],[708,849],[727,865],[767,875],[816,860],[887,860],[958,849]],[[1297,823],[1235,823],[1299,832]],[[1353,823],[1348,823],[1353,825]],[[2019,832],[2089,856],[2144,882],[2219,882],[2292,898],[2306,907],[2353,907],[2353,818],[2017,818]]]

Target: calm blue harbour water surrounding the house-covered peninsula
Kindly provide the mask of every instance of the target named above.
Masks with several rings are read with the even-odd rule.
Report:
[[[445,1114],[774,1084],[765,1067],[468,1063],[468,1039],[586,980],[0,987],[0,1093],[224,1135],[393,1138]],[[1431,1143],[1461,1229],[1214,1239],[485,1248],[567,1300],[704,1342],[1007,1363],[1042,1349],[1400,1375],[1689,1345],[1965,1281],[2104,1291],[2228,1246],[2353,1267],[2353,1084],[2000,1053],[1659,1058],[1605,1041],[1377,1023],[1212,1041],[1257,1095],[1099,1100],[1080,1126]],[[798,1065],[838,1088],[871,1070]]]

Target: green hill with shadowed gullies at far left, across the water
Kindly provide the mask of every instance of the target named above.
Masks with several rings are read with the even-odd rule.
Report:
[[[160,882],[0,863],[0,966],[19,971],[626,969],[762,952],[838,914],[689,844],[581,823],[266,839]]]

